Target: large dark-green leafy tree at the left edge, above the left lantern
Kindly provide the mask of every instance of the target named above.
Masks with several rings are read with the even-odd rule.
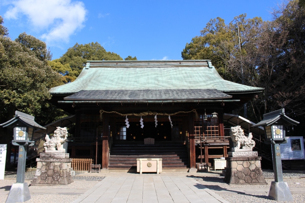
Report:
[[[63,116],[62,110],[44,111],[52,106],[47,102],[51,98],[49,88],[61,84],[60,74],[48,65],[51,55],[45,43],[26,33],[13,41],[2,23],[0,16],[0,123],[11,119],[16,110],[34,115],[41,125]],[[12,135],[11,129],[0,128],[2,142],[9,144]]]

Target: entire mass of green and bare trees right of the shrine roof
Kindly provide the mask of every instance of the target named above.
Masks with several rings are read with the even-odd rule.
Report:
[[[270,22],[247,19],[246,14],[228,24],[221,18],[210,20],[201,35],[186,44],[182,58],[211,59],[225,79],[264,87],[264,93],[248,103],[254,121],[280,108],[304,120],[304,5],[304,0],[286,2],[274,10]]]

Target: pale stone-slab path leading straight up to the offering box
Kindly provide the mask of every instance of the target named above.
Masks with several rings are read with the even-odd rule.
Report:
[[[185,176],[108,176],[86,191],[78,202],[223,202],[218,194]]]

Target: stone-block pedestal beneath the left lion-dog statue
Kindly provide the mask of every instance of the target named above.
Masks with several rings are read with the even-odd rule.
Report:
[[[74,182],[68,153],[40,153],[37,170],[31,185],[56,185]]]

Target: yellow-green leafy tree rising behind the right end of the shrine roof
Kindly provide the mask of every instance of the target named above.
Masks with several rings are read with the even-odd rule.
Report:
[[[262,24],[261,18],[247,19],[246,14],[236,16],[228,24],[220,17],[211,19],[200,31],[201,35],[186,44],[182,58],[210,59],[222,77],[244,83],[246,77],[256,77],[256,68],[249,61],[251,58],[242,56],[255,50],[253,42],[260,36]]]

